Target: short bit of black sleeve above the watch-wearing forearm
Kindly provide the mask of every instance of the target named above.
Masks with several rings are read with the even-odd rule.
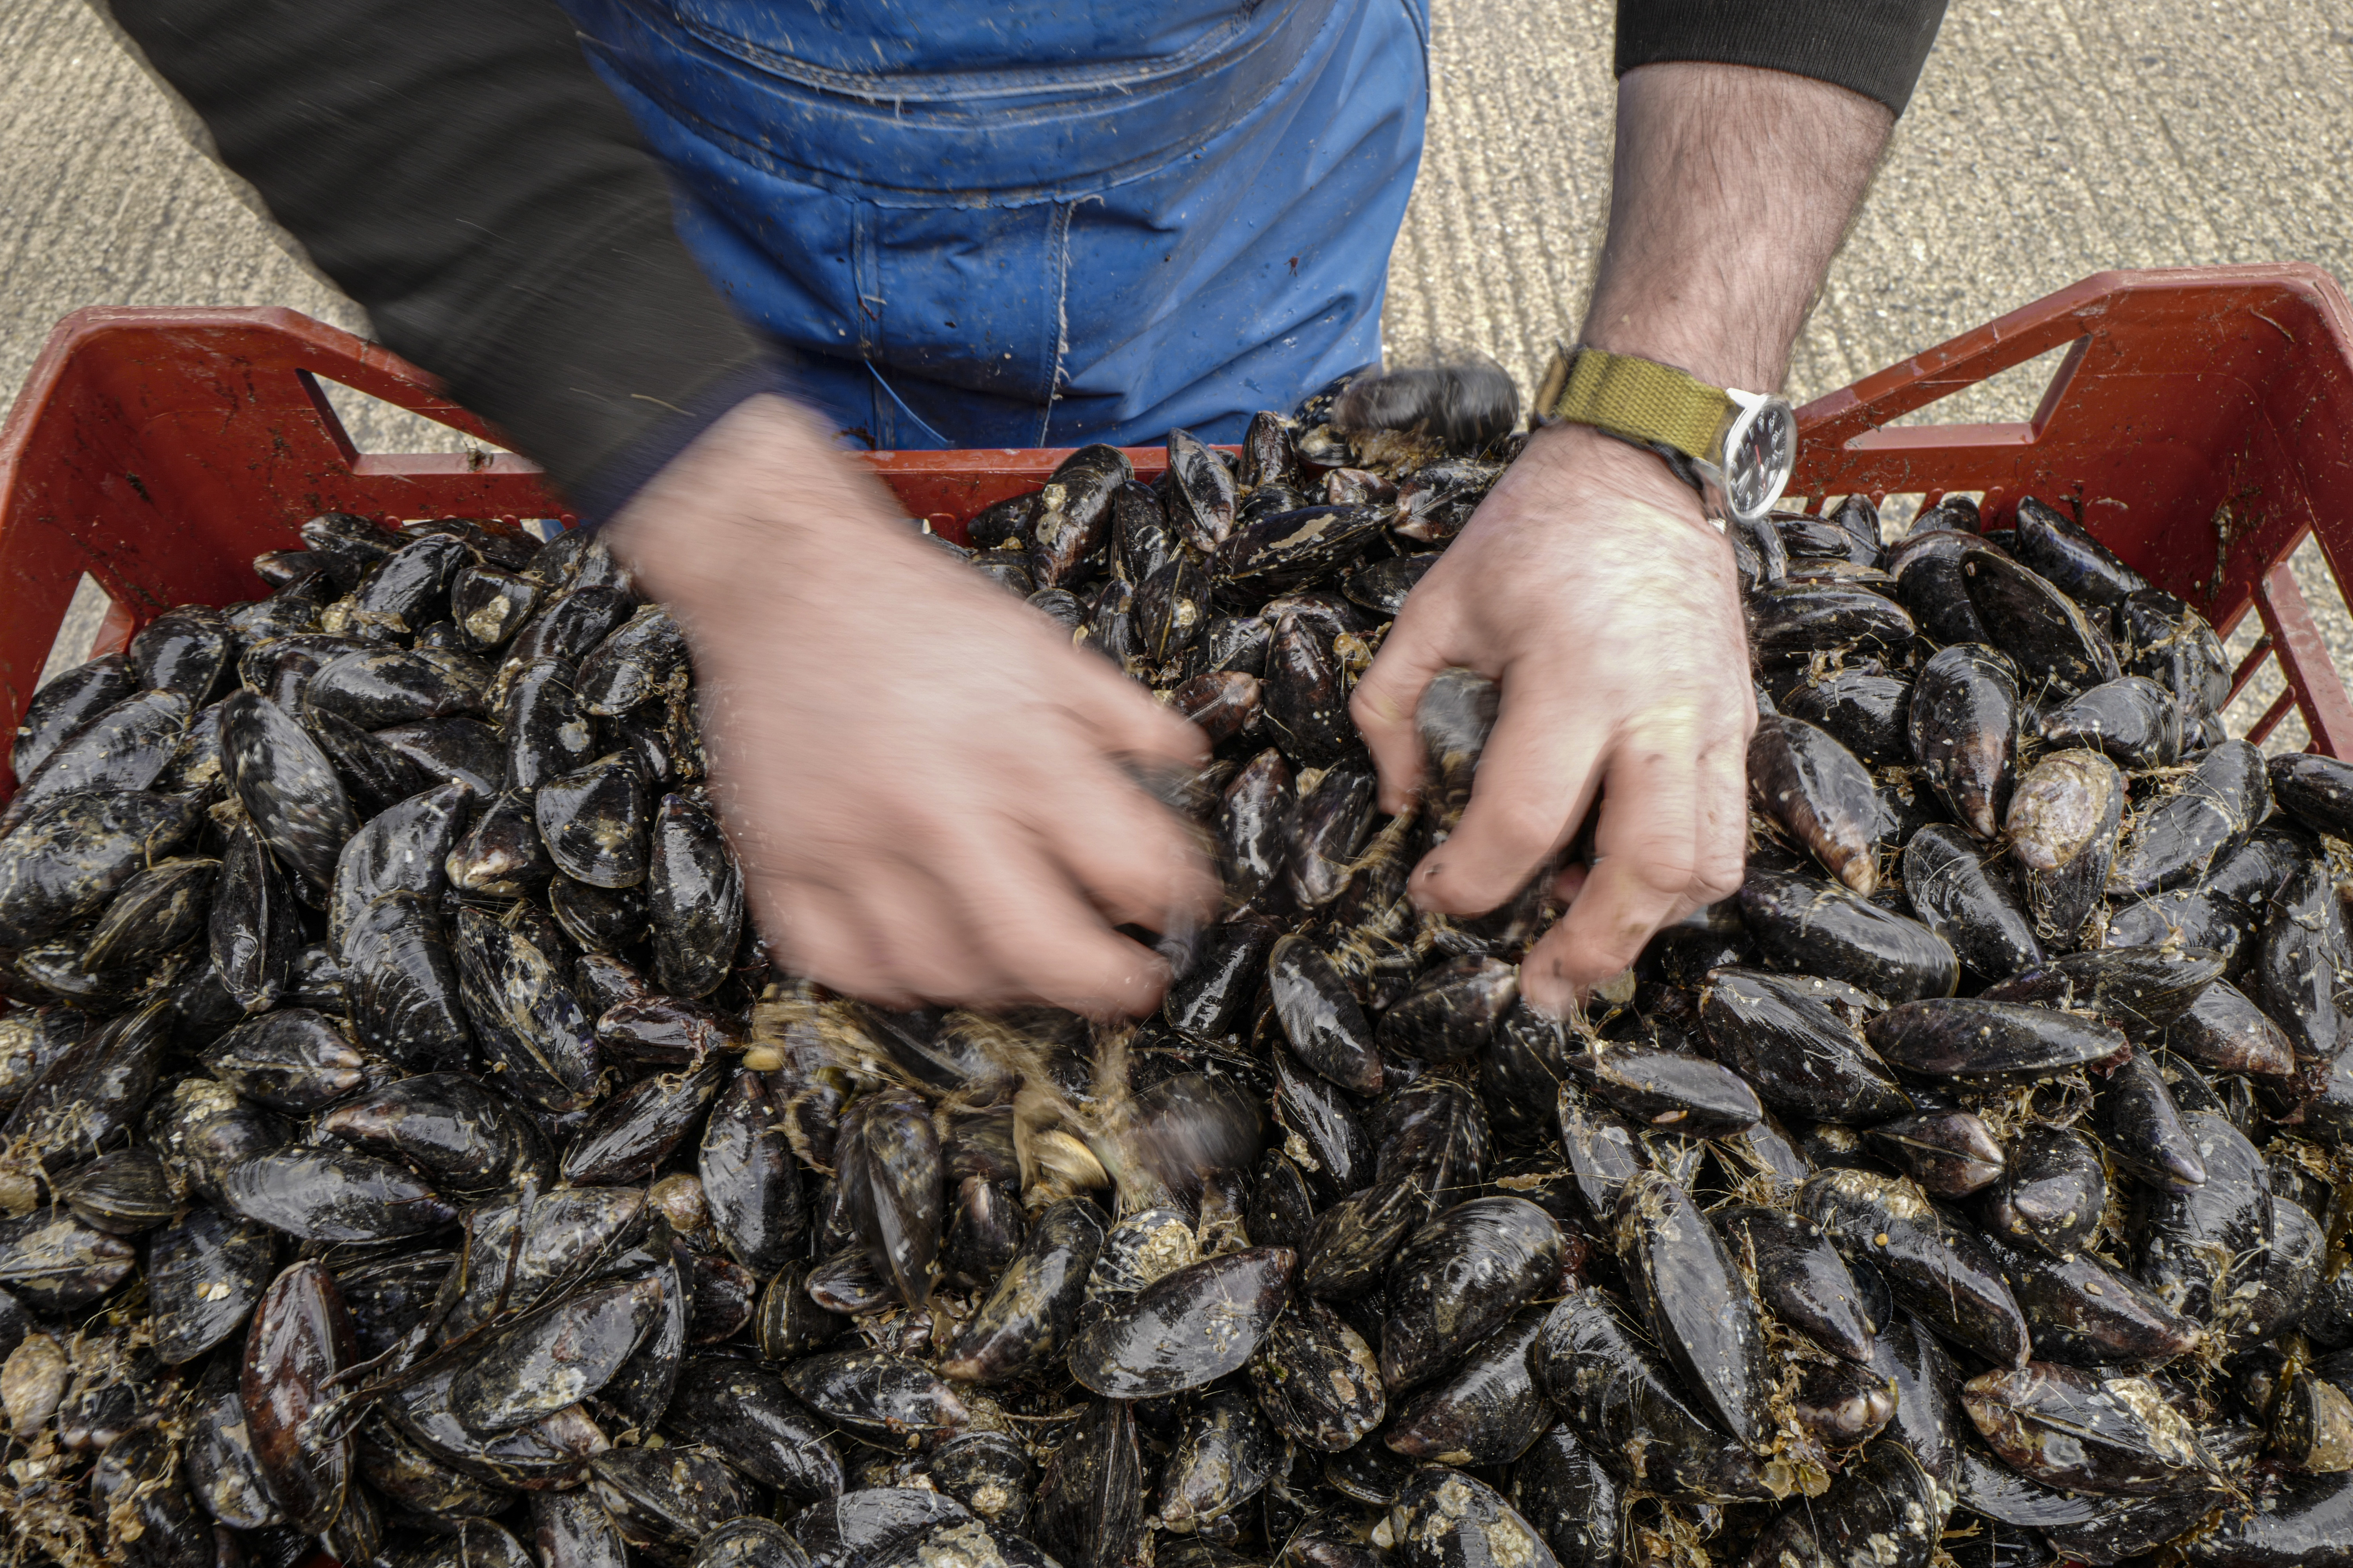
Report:
[[[1619,0],[1617,71],[1760,66],[1859,92],[1901,115],[1941,21],[1944,0]]]

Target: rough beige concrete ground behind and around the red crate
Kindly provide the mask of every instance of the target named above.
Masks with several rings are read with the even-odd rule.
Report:
[[[1574,336],[1609,195],[1612,12],[1435,0],[1431,148],[1393,261],[1393,346],[1478,346],[1527,386],[1546,346]],[[1967,0],[1946,16],[1788,393],[1845,386],[2099,268],[2217,261],[2353,277],[2344,2]],[[87,303],[273,303],[365,331],[188,146],[85,0],[14,0],[0,7],[0,388]],[[2024,418],[2042,376],[2021,367],[1937,418]],[[362,449],[456,444],[358,397],[346,411]],[[2339,595],[2311,548],[2299,567],[2353,672]],[[2271,682],[2242,703],[2266,703]],[[2301,745],[2301,726],[2280,743]]]

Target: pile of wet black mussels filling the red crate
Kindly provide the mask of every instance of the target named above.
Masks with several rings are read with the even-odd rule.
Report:
[[[1518,437],[1358,390],[939,541],[1217,743],[1144,1023],[772,973],[584,534],[322,515],[49,682],[12,1561],[2353,1561],[2353,769],[2047,505],[1774,517],[1746,886],[1553,1023],[1551,875],[1405,898],[1492,684],[1386,820],[1346,715]]]

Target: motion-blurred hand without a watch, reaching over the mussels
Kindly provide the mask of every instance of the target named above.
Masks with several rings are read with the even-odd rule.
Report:
[[[1217,907],[1122,764],[1200,731],[915,536],[816,423],[755,397],[614,520],[694,649],[753,914],[795,971],[875,1001],[1141,1013],[1167,985],[1113,924]]]

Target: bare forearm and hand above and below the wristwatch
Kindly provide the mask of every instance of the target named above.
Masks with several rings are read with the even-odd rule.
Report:
[[[1746,66],[1619,82],[1609,237],[1581,341],[1774,390],[1894,115]],[[1504,705],[1461,827],[1414,870],[1433,910],[1489,910],[1600,797],[1598,863],[1520,969],[1546,1011],[1624,971],[1652,931],[1739,886],[1755,729],[1732,550],[1689,487],[1591,430],[1544,430],[1431,569],[1355,691],[1398,809],[1414,705],[1468,665]]]

